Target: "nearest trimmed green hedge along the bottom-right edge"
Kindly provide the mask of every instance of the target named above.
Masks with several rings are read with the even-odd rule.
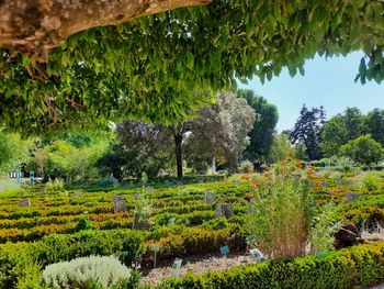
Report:
[[[166,279],[156,289],[350,289],[384,282],[384,242],[332,252],[325,257],[266,262]]]

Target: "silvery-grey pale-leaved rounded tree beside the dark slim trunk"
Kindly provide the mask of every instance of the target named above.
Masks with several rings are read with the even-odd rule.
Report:
[[[255,110],[233,92],[222,92],[217,102],[199,111],[192,120],[191,134],[187,140],[188,160],[204,160],[213,164],[227,163],[229,169],[249,145],[248,133],[255,123]]]

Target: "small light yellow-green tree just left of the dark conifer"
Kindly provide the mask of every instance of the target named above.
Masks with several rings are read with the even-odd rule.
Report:
[[[289,136],[280,133],[273,136],[272,146],[268,154],[267,162],[274,164],[280,160],[289,159],[294,156],[294,153]]]

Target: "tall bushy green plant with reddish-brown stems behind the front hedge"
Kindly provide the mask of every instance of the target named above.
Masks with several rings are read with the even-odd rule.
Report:
[[[252,208],[249,242],[269,258],[303,256],[308,245],[312,253],[332,247],[332,233],[339,226],[328,207],[316,211],[305,181],[276,176],[257,190]]]

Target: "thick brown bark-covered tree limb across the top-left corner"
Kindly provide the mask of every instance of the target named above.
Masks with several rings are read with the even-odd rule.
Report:
[[[211,0],[0,0],[0,47],[47,59],[68,36]]]

